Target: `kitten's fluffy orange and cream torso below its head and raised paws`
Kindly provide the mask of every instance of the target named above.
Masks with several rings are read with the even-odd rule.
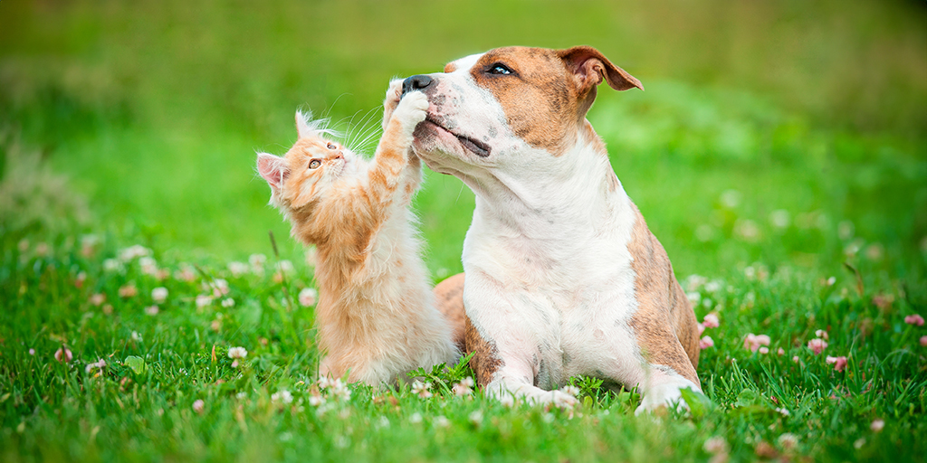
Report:
[[[392,203],[349,222],[355,230],[345,235],[367,236],[365,244],[356,238],[318,244],[316,321],[328,352],[323,369],[335,376],[350,371],[351,381],[394,382],[404,377],[396,372],[455,359],[419,257],[413,213]]]

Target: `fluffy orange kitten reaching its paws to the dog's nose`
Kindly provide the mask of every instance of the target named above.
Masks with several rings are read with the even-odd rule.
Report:
[[[325,138],[332,132],[323,122],[300,112],[286,156],[258,155],[271,205],[290,220],[293,237],[317,248],[316,324],[327,352],[320,374],[349,372],[350,382],[374,386],[460,355],[451,340],[458,330],[435,307],[408,207],[422,181],[413,130],[428,100],[401,95],[400,83],[387,91],[372,161]]]

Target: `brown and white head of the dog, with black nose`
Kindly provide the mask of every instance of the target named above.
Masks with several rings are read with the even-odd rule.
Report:
[[[540,158],[564,156],[582,143],[601,146],[586,112],[602,81],[616,90],[643,89],[590,46],[496,48],[452,61],[444,72],[413,76],[403,91],[421,90],[431,102],[415,131],[416,153],[431,169],[462,178],[511,170],[506,166],[546,169]]]

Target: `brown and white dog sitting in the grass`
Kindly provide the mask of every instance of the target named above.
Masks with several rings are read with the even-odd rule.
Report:
[[[640,386],[639,413],[684,406],[681,389],[701,391],[697,322],[586,120],[603,80],[643,89],[589,46],[497,48],[403,82],[430,102],[416,154],[476,193],[464,274],[438,302],[464,305],[489,394],[571,405],[555,389],[581,374]]]

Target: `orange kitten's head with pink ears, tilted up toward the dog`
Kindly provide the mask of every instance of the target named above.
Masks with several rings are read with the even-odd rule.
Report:
[[[326,129],[325,122],[297,111],[296,144],[283,157],[258,154],[258,172],[271,186],[270,204],[286,216],[324,197],[337,181],[362,168],[362,158],[332,140],[335,131]]]

